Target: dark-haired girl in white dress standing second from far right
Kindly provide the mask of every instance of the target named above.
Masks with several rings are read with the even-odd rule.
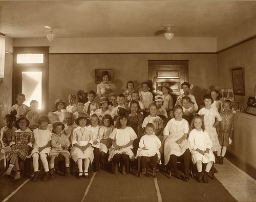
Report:
[[[207,94],[203,97],[205,107],[198,111],[199,115],[203,115],[205,130],[208,132],[210,139],[212,141],[212,151],[217,152],[220,148],[220,143],[218,140],[218,134],[216,127],[222,118],[216,109],[211,108],[211,104],[214,102],[211,95]]]

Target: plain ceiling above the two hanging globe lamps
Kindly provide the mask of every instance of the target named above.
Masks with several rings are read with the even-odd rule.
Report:
[[[256,15],[256,1],[1,1],[0,32],[12,38],[218,37]],[[160,35],[161,36],[161,35]]]

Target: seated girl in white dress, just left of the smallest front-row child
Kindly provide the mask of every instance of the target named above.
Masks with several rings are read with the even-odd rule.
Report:
[[[117,120],[117,128],[110,134],[110,138],[113,140],[112,147],[114,148],[110,152],[109,161],[114,162],[114,174],[118,174],[119,162],[122,163],[122,174],[126,174],[125,165],[129,160],[134,160],[134,154],[132,151],[133,141],[137,139],[137,135],[133,128],[130,127],[131,121],[128,115],[120,114]]]

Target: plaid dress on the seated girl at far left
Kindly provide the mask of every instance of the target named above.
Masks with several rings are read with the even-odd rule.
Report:
[[[11,151],[7,155],[7,161],[10,161],[13,154],[17,154],[20,159],[25,161],[28,156],[28,152],[33,145],[33,133],[31,132],[31,130],[28,128],[25,131],[22,131],[20,129],[16,130],[13,133],[10,146],[14,145],[14,144],[15,145],[29,145],[30,147],[23,148],[23,149],[11,148]]]

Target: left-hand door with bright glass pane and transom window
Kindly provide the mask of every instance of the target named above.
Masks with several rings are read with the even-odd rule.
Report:
[[[24,104],[38,101],[39,111],[48,111],[49,47],[14,47],[12,105],[16,96],[26,96]]]

